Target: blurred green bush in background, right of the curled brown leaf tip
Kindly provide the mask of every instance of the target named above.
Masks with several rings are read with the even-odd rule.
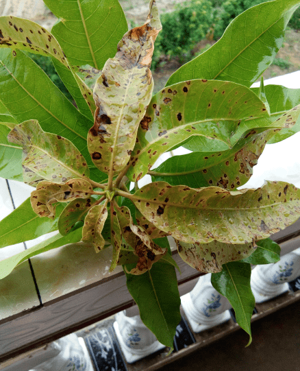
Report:
[[[177,56],[180,62],[192,57],[192,49],[205,38],[214,23],[214,8],[208,0],[192,0],[177,7],[175,12],[162,14],[162,32],[155,43],[152,69],[160,58]]]

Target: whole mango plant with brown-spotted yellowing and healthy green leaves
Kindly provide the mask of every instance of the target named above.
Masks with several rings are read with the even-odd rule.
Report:
[[[0,176],[35,187],[0,222],[0,247],[58,233],[1,261],[0,278],[68,243],[84,241],[95,254],[112,246],[110,271],[123,265],[142,320],[172,348],[180,320],[173,237],[187,264],[212,273],[250,343],[250,264],[278,261],[269,237],[300,216],[292,184],[238,190],[266,143],[300,125],[299,89],[250,86],[275,58],[300,0],[240,14],[154,96],[151,57],[162,29],[154,0],[145,24],[128,32],[117,0],[45,4],[60,19],[51,33],[0,18]],[[77,107],[23,51],[52,59]],[[191,152],[153,168],[182,145]]]

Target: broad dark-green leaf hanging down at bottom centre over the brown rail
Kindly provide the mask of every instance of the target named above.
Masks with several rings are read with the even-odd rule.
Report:
[[[127,271],[134,265],[125,265]],[[142,322],[154,333],[158,341],[173,348],[176,327],[181,320],[180,297],[175,268],[158,261],[140,276],[125,274],[127,288],[134,298]]]

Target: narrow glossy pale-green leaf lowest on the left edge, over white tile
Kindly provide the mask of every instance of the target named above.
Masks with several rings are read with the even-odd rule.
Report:
[[[23,263],[23,261],[32,258],[32,256],[36,256],[38,254],[42,254],[42,252],[46,252],[49,250],[53,250],[55,248],[60,248],[61,246],[67,245],[69,243],[76,243],[80,241],[82,237],[82,228],[71,232],[67,237],[63,237],[62,235],[58,234],[55,235],[46,241],[42,241],[38,243],[36,246],[32,246],[32,248],[28,248],[18,254],[11,256],[8,259],[4,259],[0,261],[0,280],[14,269],[16,265]]]

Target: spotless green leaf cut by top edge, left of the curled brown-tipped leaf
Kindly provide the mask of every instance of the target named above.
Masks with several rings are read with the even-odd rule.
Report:
[[[127,21],[117,0],[45,0],[61,19],[51,32],[71,64],[101,69],[116,53],[116,45],[127,32]]]

